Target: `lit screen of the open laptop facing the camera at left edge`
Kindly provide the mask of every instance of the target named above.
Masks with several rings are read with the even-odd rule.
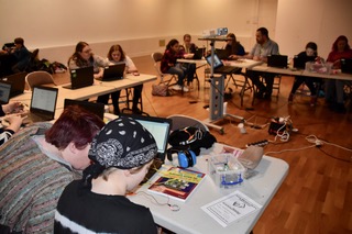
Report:
[[[33,87],[31,111],[55,113],[58,90],[51,87]]]

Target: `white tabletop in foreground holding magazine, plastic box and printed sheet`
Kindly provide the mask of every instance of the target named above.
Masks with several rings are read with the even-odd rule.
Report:
[[[207,158],[210,155],[217,155],[221,152],[223,145],[216,143],[211,149],[202,151],[201,156],[197,157],[197,165],[191,169],[198,171],[208,171]],[[244,180],[244,182],[235,188],[241,192],[252,198],[263,208],[254,213],[244,216],[230,224],[228,227],[222,227],[216,220],[210,218],[200,208],[208,204],[226,194],[233,192],[235,189],[220,189],[215,185],[212,179],[207,175],[197,190],[191,194],[186,202],[169,199],[170,204],[178,204],[180,210],[175,212],[170,211],[168,205],[160,205],[143,193],[138,193],[129,197],[135,203],[150,208],[154,221],[175,233],[198,233],[198,234],[215,234],[215,233],[250,233],[264,212],[267,204],[278,190],[288,172],[288,164],[282,159],[264,156],[260,165],[255,168],[258,171],[254,177]],[[152,178],[155,180],[157,174]],[[139,191],[146,191],[150,185],[142,186]],[[153,197],[161,203],[167,202],[167,198],[157,196]]]

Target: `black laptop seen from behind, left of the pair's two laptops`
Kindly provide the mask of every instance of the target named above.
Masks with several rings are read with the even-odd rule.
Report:
[[[84,67],[78,69],[72,69],[70,73],[70,85],[63,86],[66,89],[79,89],[88,86],[92,86],[95,82],[94,67]]]

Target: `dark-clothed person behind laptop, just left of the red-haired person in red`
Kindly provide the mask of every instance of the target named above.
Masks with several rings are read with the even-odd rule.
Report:
[[[306,62],[311,62],[315,60],[318,56],[318,46],[314,42],[309,42],[306,45],[306,51],[299,53],[297,55],[298,58],[301,58],[302,60]],[[288,97],[288,102],[292,103],[294,101],[294,96],[296,90],[299,88],[301,83],[306,83],[310,91],[310,105],[315,105],[317,101],[317,88],[315,86],[315,82],[319,81],[321,79],[319,78],[312,78],[312,77],[302,77],[302,76],[297,76],[295,77],[295,81],[293,85],[293,89],[290,90],[289,97]]]

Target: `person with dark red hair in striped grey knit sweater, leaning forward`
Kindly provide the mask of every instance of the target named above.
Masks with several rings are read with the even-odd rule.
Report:
[[[90,143],[103,125],[70,105],[54,124],[34,123],[0,147],[0,233],[53,233],[58,198],[89,166]]]

